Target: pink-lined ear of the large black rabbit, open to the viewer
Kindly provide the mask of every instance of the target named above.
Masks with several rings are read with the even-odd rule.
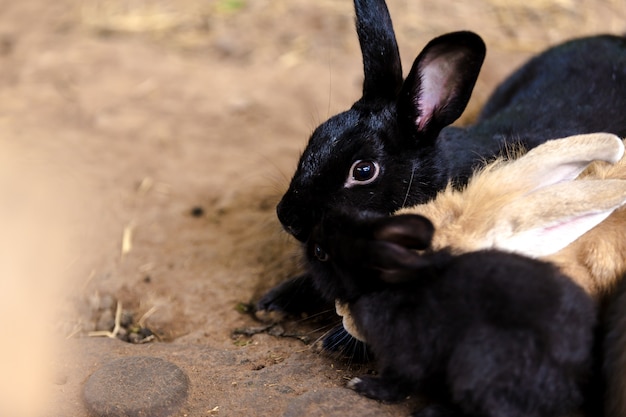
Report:
[[[398,98],[398,118],[408,132],[435,139],[461,116],[485,59],[485,44],[472,32],[433,39],[413,63]]]

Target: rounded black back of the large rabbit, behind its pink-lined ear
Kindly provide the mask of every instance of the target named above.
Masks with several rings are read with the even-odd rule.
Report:
[[[470,130],[508,130],[528,148],[582,133],[623,137],[625,108],[626,38],[599,35],[566,41],[525,63],[496,88]]]

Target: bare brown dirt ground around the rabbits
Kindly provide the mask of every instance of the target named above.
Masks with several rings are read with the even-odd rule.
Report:
[[[461,123],[534,52],[626,32],[620,0],[388,3],[406,70],[436,35],[484,37]],[[0,21],[3,415],[84,416],[90,372],[145,349],[212,352],[180,360],[184,415],[298,415],[346,398],[356,408],[301,415],[406,413],[344,391],[367,367],[320,356],[310,342],[327,329],[313,320],[285,324],[305,338],[233,335],[260,326],[246,306],[299,268],[274,207],[313,128],[359,97],[351,1],[2,0]],[[134,340],[154,340],[91,333],[111,330],[118,303]],[[214,386],[269,368],[289,389],[255,391],[263,406]]]

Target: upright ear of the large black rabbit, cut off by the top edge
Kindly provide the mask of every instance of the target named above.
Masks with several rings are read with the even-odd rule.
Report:
[[[354,0],[356,31],[363,54],[363,98],[395,99],[402,87],[402,64],[384,0]]]

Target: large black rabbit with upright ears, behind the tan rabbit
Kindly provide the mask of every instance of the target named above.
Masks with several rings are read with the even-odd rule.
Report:
[[[463,112],[485,46],[470,32],[433,39],[406,79],[384,0],[355,0],[364,66],[363,96],[312,134],[277,207],[302,242],[325,212],[353,208],[389,214],[433,198],[508,143],[526,148],[591,132],[626,135],[626,39],[594,36],[555,46],[496,89],[477,122],[449,126]],[[270,290],[260,315],[327,306],[311,272]]]

